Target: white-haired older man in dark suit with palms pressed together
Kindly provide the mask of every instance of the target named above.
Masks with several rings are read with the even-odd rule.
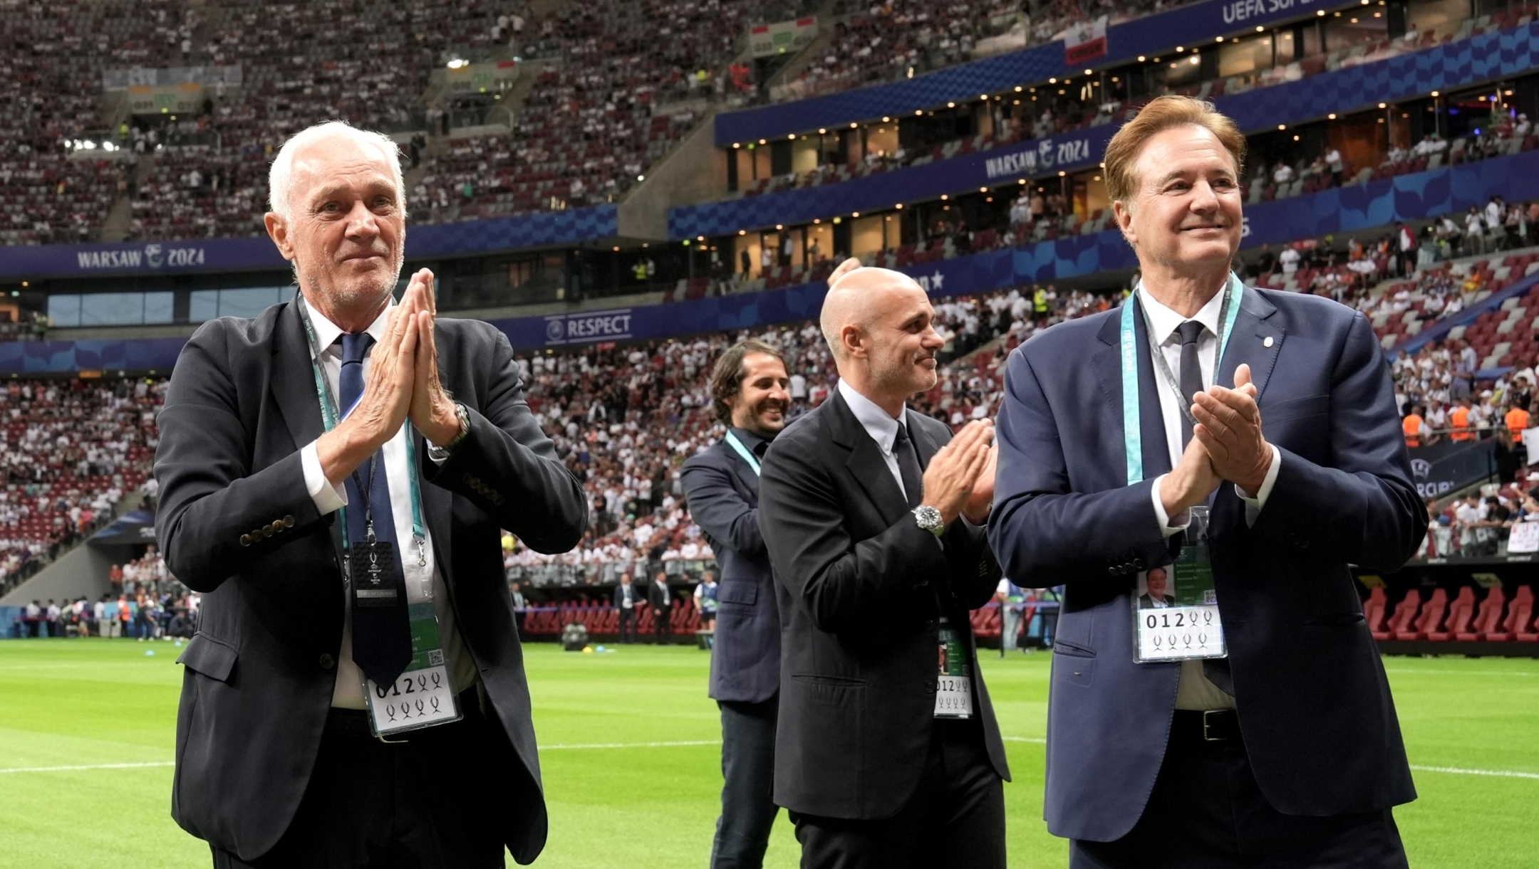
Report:
[[[500,332],[439,318],[426,269],[392,303],[394,142],[306,129],[271,189],[299,292],[200,328],[160,415],[155,526],[205,592],[171,812],[219,867],[528,863],[546,815],[500,538],[573,548],[583,492]]]

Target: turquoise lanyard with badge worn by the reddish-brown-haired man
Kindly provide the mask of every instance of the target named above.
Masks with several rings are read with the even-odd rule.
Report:
[[[1224,288],[1224,301],[1219,306],[1217,349],[1213,360],[1213,380],[1219,378],[1219,366],[1224,352],[1228,349],[1228,338],[1234,334],[1234,320],[1239,315],[1240,298],[1245,285],[1230,272],[1230,280]],[[1122,305],[1122,440],[1127,449],[1128,484],[1143,480],[1143,437],[1139,403],[1139,346],[1134,329],[1136,297],[1130,297]],[[1148,326],[1148,323],[1145,323]],[[1176,394],[1176,405],[1180,412],[1196,425],[1190,395],[1182,395],[1176,375],[1165,361],[1165,354],[1154,340],[1150,329],[1150,352],[1170,389]],[[1159,386],[1156,385],[1156,389]],[[1163,432],[1162,432],[1163,437]],[[1208,552],[1208,508],[1191,508],[1191,520],[1187,529],[1185,544],[1170,566],[1151,566],[1150,572],[1168,574],[1170,591],[1174,595],[1160,592],[1156,600],[1153,589],[1145,592],[1148,574],[1140,574],[1140,583],[1130,595],[1133,604],[1133,648],[1134,660],[1147,661],[1182,661],[1193,658],[1222,658],[1228,655],[1228,644],[1224,637],[1224,624],[1219,618],[1217,597],[1213,591],[1213,561]],[[1148,603],[1143,604],[1142,598]],[[1168,601],[1165,598],[1170,598]]]

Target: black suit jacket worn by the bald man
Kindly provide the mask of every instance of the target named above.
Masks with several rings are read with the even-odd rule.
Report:
[[[913,411],[906,425],[920,466],[951,440],[945,423]],[[1008,780],[968,621],[999,586],[983,529],[959,518],[940,546],[919,528],[837,392],[770,446],[759,528],[780,606],[774,801],[862,820],[903,807],[930,751],[942,614],[966,637],[974,714]]]

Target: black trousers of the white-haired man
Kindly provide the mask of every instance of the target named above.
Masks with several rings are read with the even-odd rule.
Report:
[[[365,712],[334,709],[288,832],[252,861],[214,847],[214,869],[502,869],[517,806],[486,761],[512,747],[474,689],[460,709],[399,744],[368,735]]]

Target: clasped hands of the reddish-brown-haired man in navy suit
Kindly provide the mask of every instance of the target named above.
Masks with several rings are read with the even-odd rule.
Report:
[[[1271,444],[1262,437],[1260,408],[1248,365],[1234,371],[1234,389],[1213,386],[1193,397],[1191,443],[1176,468],[1160,480],[1165,515],[1207,503],[1225,480],[1254,497],[1271,468]]]

